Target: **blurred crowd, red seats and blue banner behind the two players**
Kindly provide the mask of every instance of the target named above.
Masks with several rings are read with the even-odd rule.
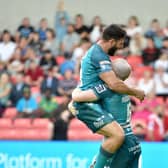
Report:
[[[88,168],[102,137],[67,109],[80,61],[104,27],[121,24],[126,83],[142,168],[167,168],[168,17],[164,0],[0,0],[0,167]]]

